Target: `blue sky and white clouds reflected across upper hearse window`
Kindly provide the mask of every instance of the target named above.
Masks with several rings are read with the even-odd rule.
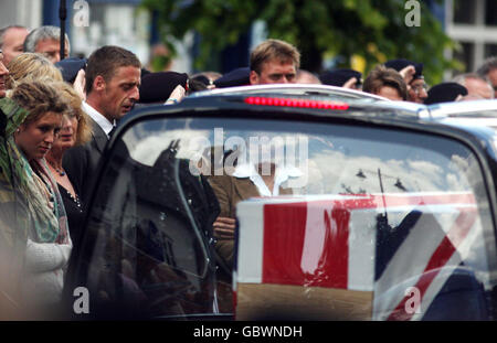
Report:
[[[360,128],[350,130],[349,137],[334,137],[328,133],[225,130],[221,122],[212,130],[176,129],[172,121],[168,121],[167,128],[160,129],[163,125],[156,124],[156,128],[159,128],[156,135],[154,131],[145,131],[145,136],[140,138],[139,128],[136,128],[136,137],[125,137],[125,143],[133,147],[129,150],[135,160],[154,164],[171,141],[179,141],[178,157],[188,160],[199,160],[200,157],[213,159],[214,152],[224,158],[224,153],[242,144],[244,151],[240,152],[239,160],[248,160],[254,152],[248,149],[271,144],[273,154],[275,151],[284,154],[284,164],[290,163],[292,167],[300,165],[305,169],[303,176],[307,182],[305,190],[295,190],[298,193],[380,192],[379,178],[382,179],[384,192],[462,191],[467,190],[469,184],[465,179],[467,175],[461,174],[459,170],[468,169],[467,164],[475,162],[466,160],[467,152],[466,156],[454,153],[446,157],[433,151],[430,146],[413,149],[409,142],[403,143],[405,139],[401,137],[398,137],[399,140],[379,140],[381,132],[374,137],[368,133],[369,137],[359,139],[356,136],[360,135]],[[347,129],[343,133],[347,133]],[[299,147],[305,151],[299,151]],[[443,151],[443,147],[440,150]],[[262,154],[263,151],[256,158],[262,158]],[[212,161],[214,163],[215,160]],[[219,163],[221,162],[218,161]]]

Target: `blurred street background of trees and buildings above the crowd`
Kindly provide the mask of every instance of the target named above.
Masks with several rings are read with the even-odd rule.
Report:
[[[419,26],[408,26],[420,3]],[[0,0],[0,26],[60,25],[60,0]],[[303,54],[319,73],[404,57],[422,62],[429,84],[475,71],[497,55],[496,0],[67,0],[71,56],[115,44],[152,71],[226,73],[248,64],[266,37]],[[87,11],[87,12],[85,12]]]

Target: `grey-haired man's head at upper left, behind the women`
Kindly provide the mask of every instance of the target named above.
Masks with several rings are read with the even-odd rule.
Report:
[[[28,34],[24,40],[24,52],[45,55],[52,63],[56,63],[68,56],[71,46],[65,34],[64,56],[61,56],[61,29],[57,26],[40,26]]]

